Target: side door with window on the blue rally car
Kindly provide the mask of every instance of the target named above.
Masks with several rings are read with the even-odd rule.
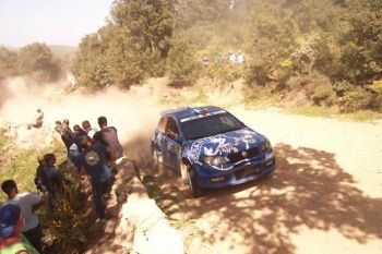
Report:
[[[179,170],[180,138],[179,128],[175,119],[169,118],[165,132],[164,157],[166,164],[175,170]]]

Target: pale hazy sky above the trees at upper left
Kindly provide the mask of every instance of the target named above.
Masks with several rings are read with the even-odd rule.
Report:
[[[0,45],[77,46],[106,22],[114,0],[0,0]]]

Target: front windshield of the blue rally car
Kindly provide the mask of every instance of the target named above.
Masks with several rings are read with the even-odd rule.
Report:
[[[228,113],[190,120],[182,123],[187,140],[198,140],[244,128],[236,118]]]

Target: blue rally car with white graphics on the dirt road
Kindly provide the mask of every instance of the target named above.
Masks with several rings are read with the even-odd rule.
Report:
[[[152,140],[156,166],[178,171],[193,196],[275,170],[270,141],[218,107],[166,110]]]

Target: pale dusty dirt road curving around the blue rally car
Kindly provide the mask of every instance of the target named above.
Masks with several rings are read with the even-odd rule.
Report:
[[[47,124],[69,118],[73,124],[87,119],[96,125],[96,118],[106,116],[118,128],[128,155],[145,165],[160,110],[183,105],[179,94],[159,83],[151,81],[128,93],[17,93],[3,104],[0,118],[24,122],[36,107],[45,111]],[[177,93],[225,106],[265,134],[278,169],[255,183],[198,199],[188,197],[176,176],[158,176],[164,188],[183,199],[181,206],[202,229],[203,240],[216,253],[381,253],[382,124],[247,110],[234,90]]]

